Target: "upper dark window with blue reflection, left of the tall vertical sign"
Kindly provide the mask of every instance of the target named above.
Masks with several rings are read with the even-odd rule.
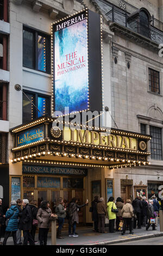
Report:
[[[50,36],[23,27],[23,66],[50,73]]]

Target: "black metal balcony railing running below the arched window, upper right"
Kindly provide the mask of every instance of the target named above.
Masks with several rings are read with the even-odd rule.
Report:
[[[112,10],[106,14],[106,16],[108,16],[108,19],[110,21],[116,22],[121,26],[130,29],[133,32],[146,36],[146,38],[151,39],[157,44],[163,43],[163,32],[161,33],[161,31],[150,25],[149,27],[146,27],[141,23],[137,22],[136,20],[131,19],[128,16],[127,12],[125,14],[122,14],[119,11],[115,10],[113,7]]]

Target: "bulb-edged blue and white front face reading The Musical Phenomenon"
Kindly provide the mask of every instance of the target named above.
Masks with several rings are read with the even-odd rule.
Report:
[[[53,25],[54,110],[89,108],[86,11]]]

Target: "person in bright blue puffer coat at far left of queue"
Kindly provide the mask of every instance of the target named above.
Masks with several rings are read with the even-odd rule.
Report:
[[[4,234],[3,245],[6,245],[7,240],[10,236],[10,233],[12,233],[14,245],[17,245],[16,231],[17,231],[17,224],[18,224],[17,220],[18,220],[19,210],[17,209],[15,201],[11,201],[10,205],[11,205],[10,209],[8,209],[8,211],[5,214],[7,221],[6,221],[6,229]]]

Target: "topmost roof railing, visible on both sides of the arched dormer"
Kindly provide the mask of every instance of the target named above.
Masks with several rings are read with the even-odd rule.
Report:
[[[109,2],[128,14],[132,14],[134,13],[134,11],[139,10],[138,8],[134,7],[133,5],[127,3],[124,0],[109,0]],[[154,15],[152,15],[152,26],[163,31],[163,22],[155,19]]]

